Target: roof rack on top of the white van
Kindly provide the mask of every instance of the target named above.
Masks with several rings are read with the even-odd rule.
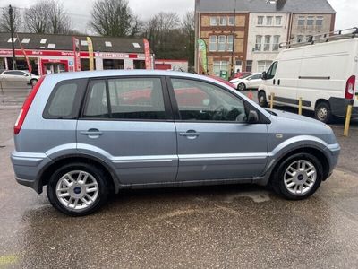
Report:
[[[334,30],[320,35],[309,36],[309,39],[305,40],[304,42],[303,40],[283,42],[279,44],[279,48],[297,48],[314,45],[316,43],[326,43],[342,39],[354,39],[356,37],[358,37],[358,27],[344,30]]]

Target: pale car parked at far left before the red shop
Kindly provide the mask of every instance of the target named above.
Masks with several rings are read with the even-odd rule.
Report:
[[[0,82],[4,88],[22,88],[34,86],[38,82],[38,75],[23,70],[0,70]]]

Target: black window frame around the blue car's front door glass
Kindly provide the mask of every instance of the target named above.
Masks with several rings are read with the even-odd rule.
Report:
[[[215,83],[215,82],[208,82],[205,80],[201,80],[199,78],[192,78],[192,77],[185,77],[185,76],[166,76],[166,81],[168,83],[168,91],[169,91],[169,96],[171,97],[171,102],[172,102],[172,107],[173,107],[173,113],[174,115],[177,115],[175,117],[175,122],[186,122],[186,123],[227,123],[227,124],[242,124],[242,125],[249,125],[248,123],[242,123],[242,122],[237,122],[237,121],[211,121],[211,120],[188,120],[188,119],[182,119],[181,115],[180,115],[180,110],[179,110],[179,106],[177,104],[176,98],[175,98],[175,91],[174,91],[174,87],[173,87],[173,83],[172,83],[172,79],[183,79],[183,80],[189,80],[189,81],[194,81],[194,82],[203,82],[203,83],[208,83],[210,85],[213,85],[221,90],[224,90],[226,92],[228,92],[229,94],[233,95],[235,98],[238,98],[240,100],[243,101],[243,105],[245,110],[255,110],[258,115],[259,115],[259,120],[260,122],[257,124],[269,124],[271,123],[271,121],[265,116],[263,115],[260,110],[258,108],[253,107],[249,102],[247,102],[246,100],[244,100],[243,98],[241,98],[241,96],[234,94],[234,92],[229,91],[228,89],[226,89],[225,87],[222,87],[221,85]]]

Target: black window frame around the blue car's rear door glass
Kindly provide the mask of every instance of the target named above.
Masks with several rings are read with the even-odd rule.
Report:
[[[164,108],[165,108],[165,119],[145,119],[145,118],[103,118],[103,117],[84,117],[84,112],[87,108],[89,102],[89,95],[90,95],[90,84],[93,81],[105,81],[106,88],[109,91],[108,81],[109,80],[118,80],[118,79],[160,79],[162,85],[162,95],[164,101]],[[109,98],[109,95],[107,94]],[[108,111],[109,113],[109,111]],[[112,76],[104,76],[104,77],[91,77],[89,78],[89,82],[86,87],[85,97],[83,98],[83,103],[81,106],[81,114],[78,117],[79,120],[98,120],[98,121],[133,121],[133,122],[173,122],[173,108],[169,98],[169,92],[167,90],[166,84],[166,77],[163,75],[112,75]]]

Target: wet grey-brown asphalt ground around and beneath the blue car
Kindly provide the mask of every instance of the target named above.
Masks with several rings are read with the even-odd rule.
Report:
[[[310,199],[263,187],[125,191],[83,218],[13,179],[13,122],[0,106],[0,268],[357,268],[358,126]]]

